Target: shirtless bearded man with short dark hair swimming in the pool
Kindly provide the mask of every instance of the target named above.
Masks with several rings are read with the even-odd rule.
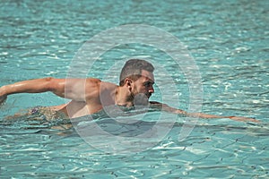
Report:
[[[59,97],[70,98],[67,104],[56,107],[34,107],[30,114],[43,113],[48,118],[65,115],[69,118],[91,115],[108,106],[134,107],[147,105],[171,113],[202,118],[230,118],[237,121],[258,122],[256,119],[239,116],[207,115],[187,113],[159,102],[148,101],[154,93],[152,64],[131,59],[126,62],[120,73],[119,85],[99,79],[54,79],[44,78],[20,81],[0,88],[0,104],[8,95],[15,93],[40,93],[51,91]]]

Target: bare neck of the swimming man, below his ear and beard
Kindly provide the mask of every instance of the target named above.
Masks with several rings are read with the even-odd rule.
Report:
[[[134,102],[130,98],[128,91],[124,87],[117,86],[115,92],[115,105],[124,106],[124,107],[133,107]]]

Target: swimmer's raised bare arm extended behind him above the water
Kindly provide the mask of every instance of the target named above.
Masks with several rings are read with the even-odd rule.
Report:
[[[19,81],[0,88],[0,104],[8,95],[16,93],[41,93],[51,91],[59,97],[85,101],[89,89],[94,91],[97,79],[54,79],[44,78]]]

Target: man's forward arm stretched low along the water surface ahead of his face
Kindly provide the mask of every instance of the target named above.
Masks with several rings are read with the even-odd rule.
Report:
[[[164,111],[170,112],[170,113],[175,113],[178,115],[185,115],[185,116],[190,116],[190,117],[199,117],[199,118],[229,118],[234,121],[242,121],[242,122],[255,122],[255,123],[260,123],[260,121],[253,119],[253,118],[248,118],[248,117],[241,117],[241,116],[221,116],[221,115],[209,115],[209,114],[204,114],[204,113],[187,113],[187,111],[177,109],[174,107],[169,107],[168,105],[161,104],[159,102],[151,102],[152,107],[160,108]]]

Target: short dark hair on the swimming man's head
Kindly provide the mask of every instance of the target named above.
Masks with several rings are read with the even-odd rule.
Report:
[[[154,67],[151,63],[141,59],[130,59],[122,68],[119,76],[119,86],[124,86],[126,78],[136,81],[141,77],[142,70],[153,72]]]

